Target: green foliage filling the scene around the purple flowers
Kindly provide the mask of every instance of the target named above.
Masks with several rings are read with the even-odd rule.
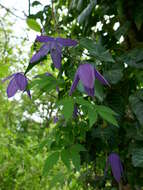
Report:
[[[143,189],[143,3],[54,0],[44,8],[33,1],[31,8],[35,6],[41,10],[27,17],[32,30],[76,39],[78,45],[63,49],[60,70],[54,68],[49,55],[32,68],[27,63],[31,100],[24,93],[19,104],[15,99],[8,102],[0,87],[0,188],[117,189],[112,173],[104,176],[107,156],[117,152],[124,166],[122,188]],[[39,43],[31,46],[30,58],[39,48]],[[1,78],[11,72],[9,61],[18,65],[11,44],[5,50],[7,57],[0,58]],[[8,61],[3,67],[4,60]],[[81,61],[95,66],[111,87],[95,80],[92,98],[79,83],[70,97]],[[31,119],[37,113],[41,124]]]

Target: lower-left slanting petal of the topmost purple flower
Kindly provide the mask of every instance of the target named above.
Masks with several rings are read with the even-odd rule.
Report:
[[[34,63],[39,61],[41,58],[45,57],[50,50],[50,44],[44,44],[40,50],[33,55],[33,57],[30,59],[30,63]]]

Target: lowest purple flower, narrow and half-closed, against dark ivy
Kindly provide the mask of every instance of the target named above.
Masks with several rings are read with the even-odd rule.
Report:
[[[119,183],[121,180],[121,177],[123,176],[123,166],[118,154],[111,153],[108,156],[105,173],[107,172],[109,165],[111,166],[112,174],[115,180]]]

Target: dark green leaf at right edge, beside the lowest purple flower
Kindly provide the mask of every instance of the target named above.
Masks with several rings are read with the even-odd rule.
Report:
[[[143,168],[143,148],[137,148],[133,151],[132,163],[135,167]]]

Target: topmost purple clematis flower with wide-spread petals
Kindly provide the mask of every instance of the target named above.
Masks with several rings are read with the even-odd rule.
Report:
[[[63,46],[76,46],[77,41],[66,38],[53,38],[49,36],[37,36],[36,41],[43,42],[44,44],[40,50],[33,55],[30,63],[35,63],[41,58],[45,57],[49,52],[51,54],[54,66],[57,69],[61,67],[61,57]]]

